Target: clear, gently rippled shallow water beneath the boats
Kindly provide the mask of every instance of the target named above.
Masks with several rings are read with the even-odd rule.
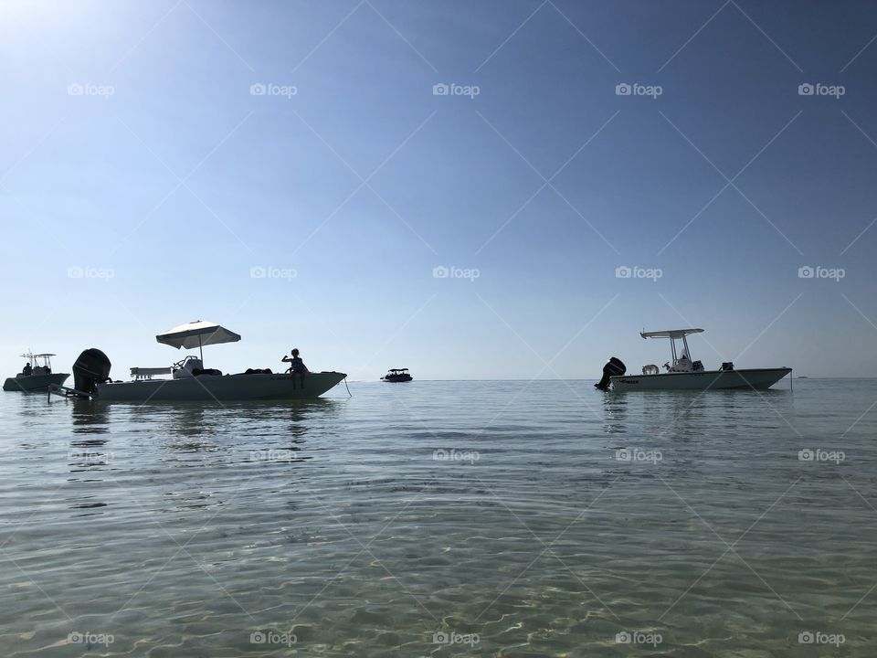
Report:
[[[877,655],[877,381],[795,384],[5,393],[0,649]]]

